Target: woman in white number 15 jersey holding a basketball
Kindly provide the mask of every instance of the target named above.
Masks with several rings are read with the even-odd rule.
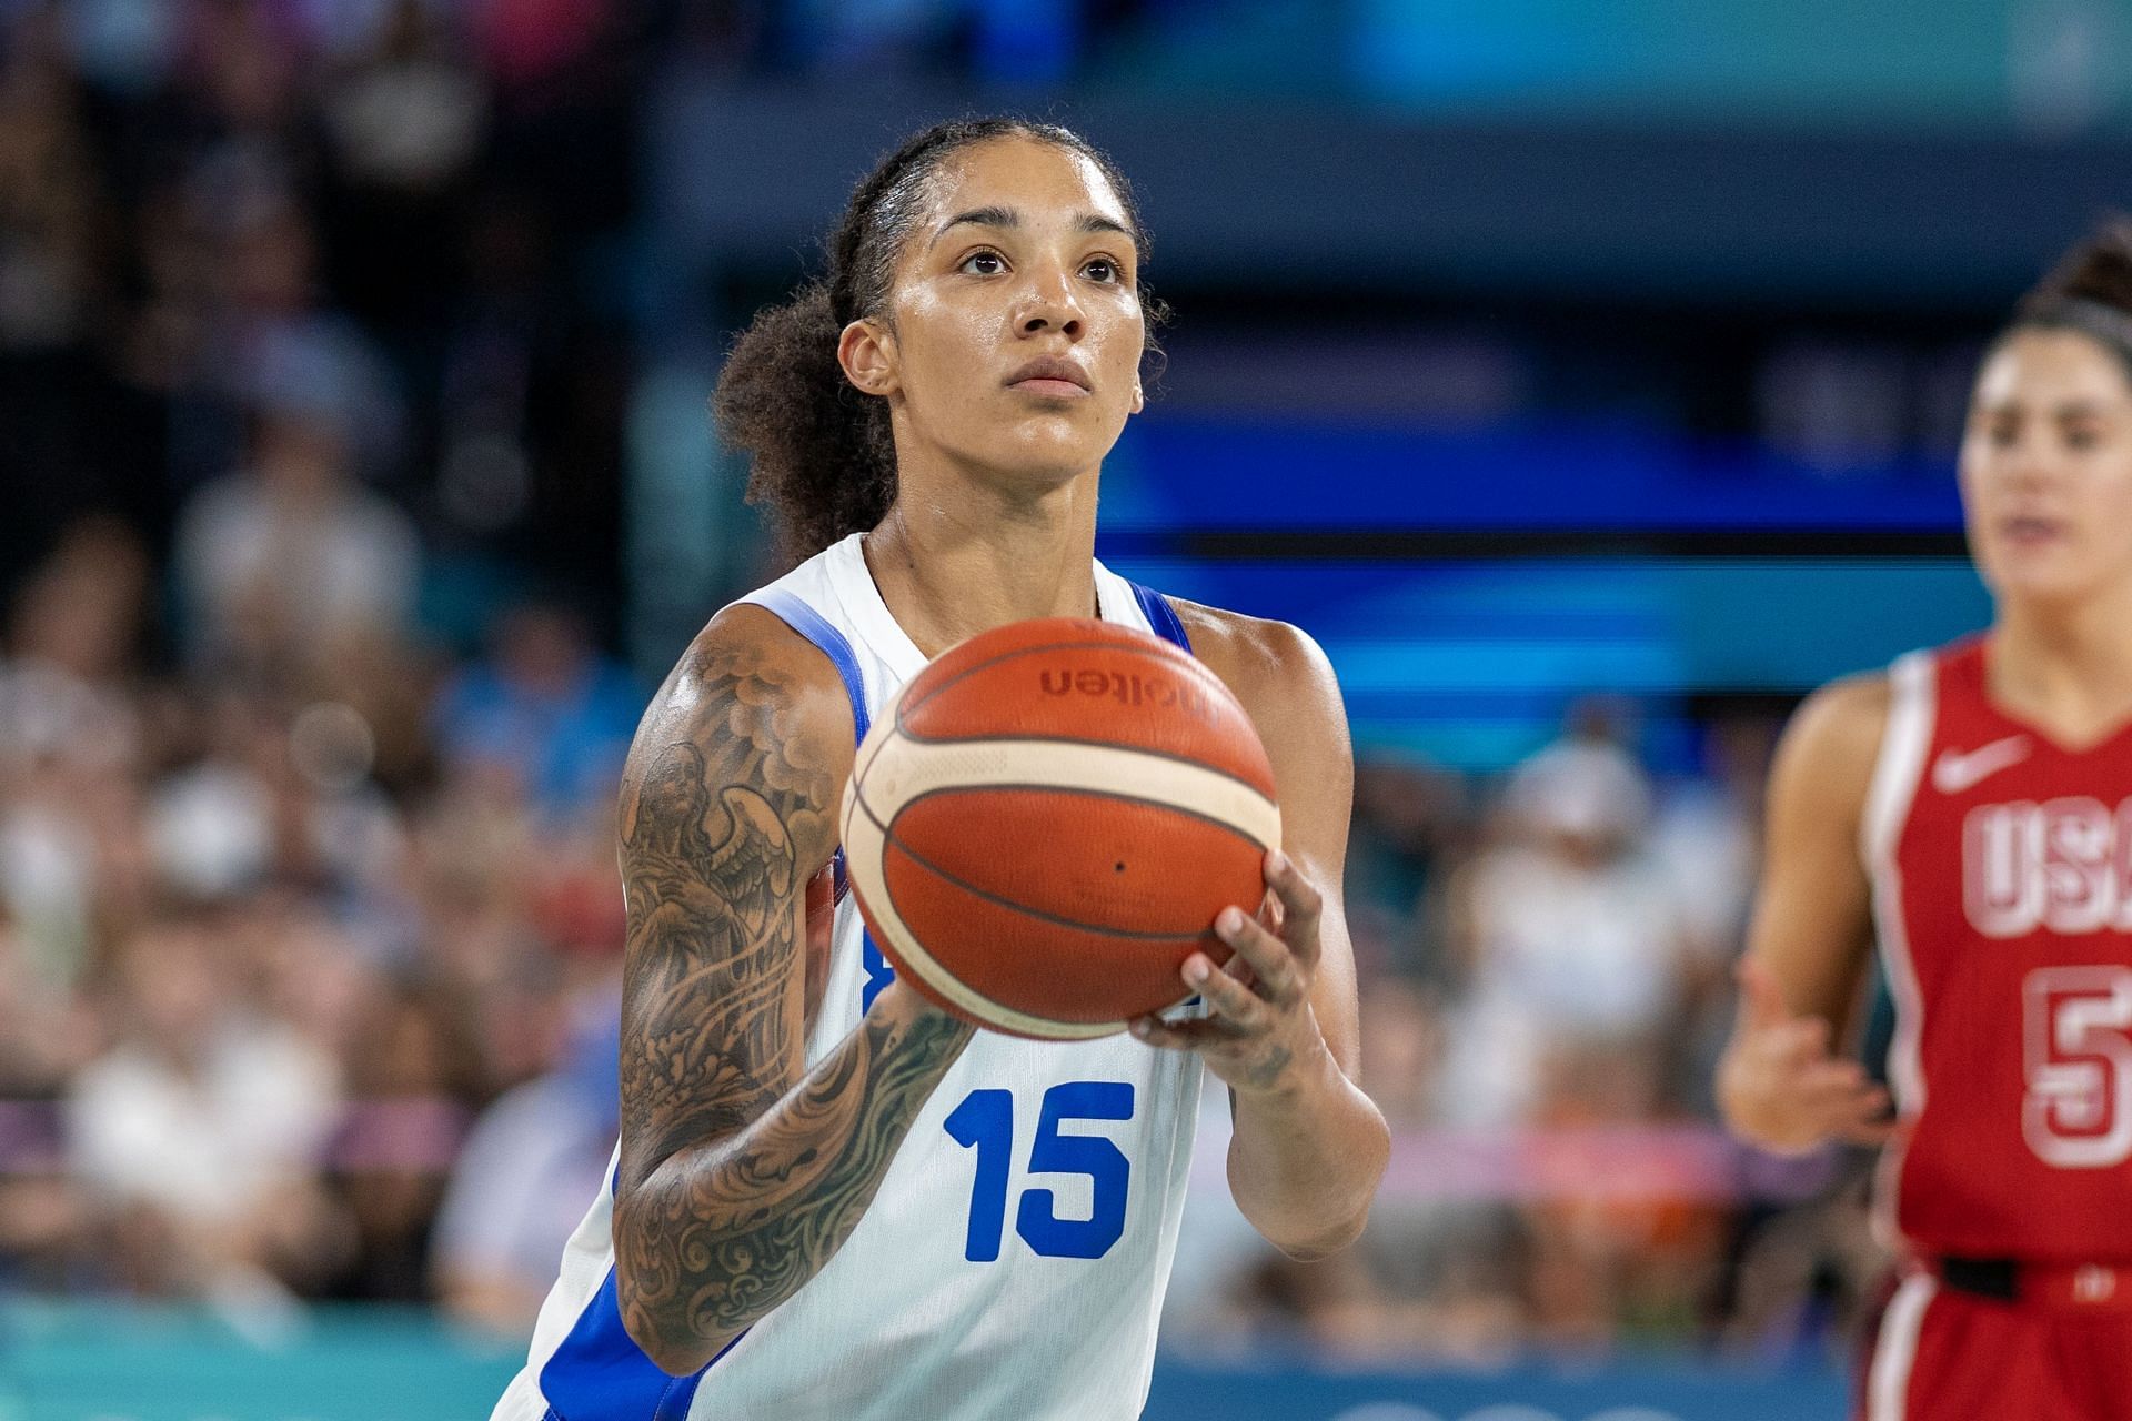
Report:
[[[1079,136],[947,124],[859,183],[827,279],[733,349],[721,424],[814,556],[712,618],[637,731],[620,1146],[497,1417],[1134,1417],[1202,1065],[1245,1216],[1298,1257],[1360,1231],[1388,1136],[1352,1084],[1332,673],[1292,626],[1094,558],[1102,458],[1141,409],[1141,243]],[[1264,914],[1217,918],[1234,969],[1183,965],[1196,1018],[976,1033],[829,908],[870,718],[930,656],[1043,616],[1202,656],[1266,744],[1286,852]]]

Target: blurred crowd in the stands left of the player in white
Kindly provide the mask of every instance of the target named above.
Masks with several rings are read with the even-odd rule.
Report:
[[[6,1285],[546,1287],[616,1114],[646,62],[599,0],[0,4]]]

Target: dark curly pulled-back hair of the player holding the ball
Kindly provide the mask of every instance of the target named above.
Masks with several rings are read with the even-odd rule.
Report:
[[[1124,173],[1081,134],[1017,117],[936,124],[906,138],[853,187],[827,241],[829,271],[793,300],[761,311],[733,343],[710,396],[718,432],[753,458],[748,503],[770,513],[778,548],[800,560],[849,533],[878,524],[895,501],[889,405],[861,394],[836,362],[844,326],[889,300],[895,260],[925,207],[927,183],[953,153],[991,138],[1025,136],[1087,158],[1126,207],[1134,245],[1147,230]],[[1147,349],[1166,309],[1145,288]]]

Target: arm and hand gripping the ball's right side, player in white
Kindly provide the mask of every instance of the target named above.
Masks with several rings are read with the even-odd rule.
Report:
[[[1362,1231],[1390,1159],[1384,1116],[1354,1084],[1360,1029],[1339,895],[1354,807],[1347,716],[1324,652],[1294,626],[1179,611],[1194,650],[1230,684],[1266,744],[1286,852],[1266,865],[1279,914],[1237,912],[1217,922],[1237,950],[1230,969],[1211,971],[1198,954],[1185,963],[1209,1018],[1151,1023],[1143,1040],[1200,1050],[1228,1082],[1237,1208],[1281,1251],[1320,1257]],[[1243,969],[1249,982],[1239,980]]]

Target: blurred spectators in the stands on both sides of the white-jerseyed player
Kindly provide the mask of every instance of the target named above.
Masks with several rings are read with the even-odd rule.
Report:
[[[785,9],[0,0],[0,1287],[531,1325],[616,1129],[629,102]],[[1211,1110],[1173,1342],[1840,1336],[1857,1161],[1708,1097],[1774,724],[1364,761],[1392,1178],[1286,1263]]]

